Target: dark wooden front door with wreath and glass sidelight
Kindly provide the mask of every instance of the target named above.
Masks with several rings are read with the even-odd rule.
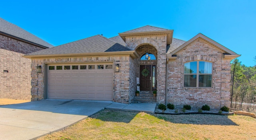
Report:
[[[145,68],[147,70],[144,70]],[[142,72],[143,70],[144,72]],[[145,76],[145,73],[147,72],[149,73],[147,76]],[[140,65],[140,90],[141,91],[152,91],[152,89],[155,88],[155,83],[156,83],[155,75],[156,75],[156,65]]]

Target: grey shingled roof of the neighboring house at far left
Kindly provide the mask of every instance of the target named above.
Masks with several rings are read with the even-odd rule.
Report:
[[[54,47],[50,43],[47,43],[46,41],[36,37],[32,33],[29,33],[28,31],[2,18],[0,18],[0,33],[11,36],[11,37],[15,37],[16,39],[20,39],[29,43],[33,43],[35,45],[38,45],[44,48]]]

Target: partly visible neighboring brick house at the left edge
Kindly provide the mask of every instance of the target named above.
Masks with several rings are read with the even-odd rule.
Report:
[[[31,99],[31,60],[24,54],[53,47],[0,18],[0,98]]]

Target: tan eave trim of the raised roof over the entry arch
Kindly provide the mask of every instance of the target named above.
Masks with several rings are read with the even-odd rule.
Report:
[[[150,35],[150,34],[167,34],[167,45],[172,44],[173,30],[166,31],[144,31],[144,32],[132,32],[132,33],[118,33],[125,42],[126,36],[138,36],[138,35]]]

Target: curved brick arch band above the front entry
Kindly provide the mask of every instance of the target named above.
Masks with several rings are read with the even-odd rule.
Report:
[[[159,49],[159,43],[154,40],[154,39],[151,39],[151,38],[142,38],[142,39],[139,39],[138,41],[134,42],[133,45],[132,45],[132,50],[136,50],[138,47],[140,47],[141,45],[144,45],[144,44],[149,44],[153,47],[156,48],[156,50],[158,51]]]

